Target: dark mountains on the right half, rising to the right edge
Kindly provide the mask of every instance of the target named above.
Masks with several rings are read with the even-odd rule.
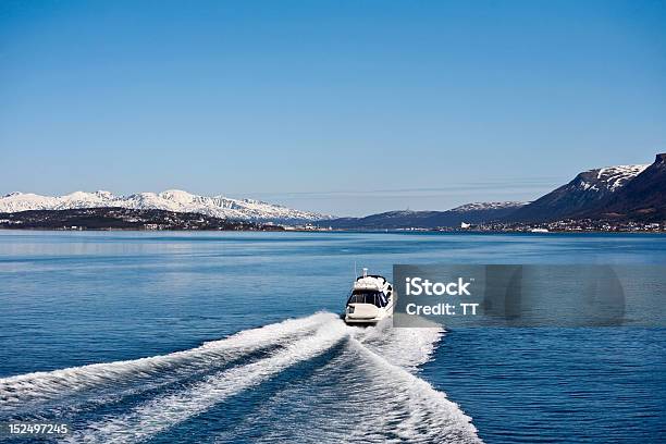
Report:
[[[433,229],[461,223],[535,223],[566,219],[666,221],[666,153],[652,164],[583,171],[569,183],[531,202],[477,202],[447,211],[388,211],[342,218],[336,229]]]

